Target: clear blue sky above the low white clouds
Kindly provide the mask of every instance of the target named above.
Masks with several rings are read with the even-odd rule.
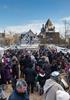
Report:
[[[70,16],[70,0],[0,0],[0,27]]]

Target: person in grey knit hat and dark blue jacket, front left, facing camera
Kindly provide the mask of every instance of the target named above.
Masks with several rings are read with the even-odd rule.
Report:
[[[16,89],[9,96],[8,100],[29,100],[27,84],[24,80],[17,81]]]

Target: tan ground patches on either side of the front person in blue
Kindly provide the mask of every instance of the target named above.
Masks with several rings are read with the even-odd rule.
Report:
[[[7,96],[8,96],[8,97],[9,97],[9,95],[11,94],[11,92],[12,92],[11,85],[7,85],[7,86],[6,86],[6,93],[7,93]],[[33,93],[33,94],[30,94],[30,100],[43,100],[42,98],[43,98],[43,97],[40,96],[40,95],[38,94],[38,92],[35,92],[35,93]]]

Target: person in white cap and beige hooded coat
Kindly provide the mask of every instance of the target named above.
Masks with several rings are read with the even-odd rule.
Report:
[[[58,90],[64,91],[63,87],[57,83],[59,75],[59,72],[54,71],[51,73],[50,79],[46,80],[43,100],[56,100],[56,92]]]

